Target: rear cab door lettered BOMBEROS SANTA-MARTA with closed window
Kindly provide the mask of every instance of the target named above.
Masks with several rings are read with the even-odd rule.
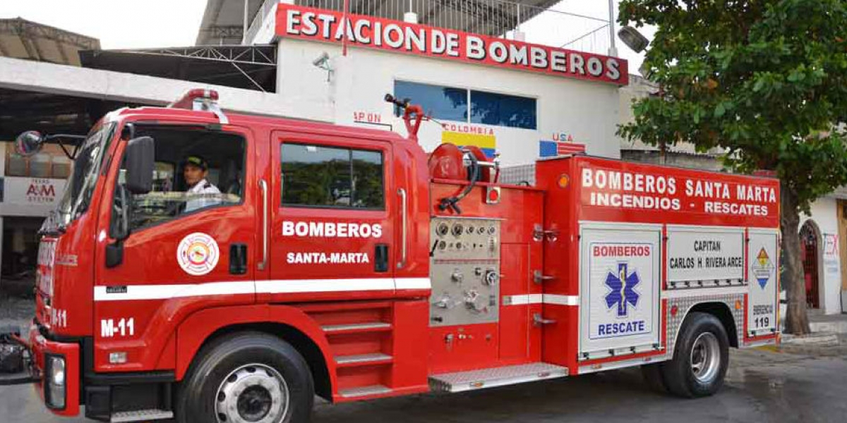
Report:
[[[388,141],[274,132],[269,301],[390,298],[396,207]]]

